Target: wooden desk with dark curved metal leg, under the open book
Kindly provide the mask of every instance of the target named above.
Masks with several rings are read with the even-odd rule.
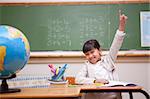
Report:
[[[81,86],[80,92],[128,92],[130,99],[133,99],[133,92],[139,92],[142,93],[146,97],[146,99],[150,99],[149,94],[146,91],[144,91],[141,86],[97,87],[95,85],[83,85]]]

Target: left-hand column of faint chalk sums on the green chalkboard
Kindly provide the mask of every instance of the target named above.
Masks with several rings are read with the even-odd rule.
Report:
[[[47,46],[71,47],[70,23],[65,18],[54,18],[48,20]]]

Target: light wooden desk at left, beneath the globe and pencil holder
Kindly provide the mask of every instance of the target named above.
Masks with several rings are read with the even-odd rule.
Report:
[[[21,92],[0,94],[0,99],[3,98],[78,99],[80,88],[22,88]]]

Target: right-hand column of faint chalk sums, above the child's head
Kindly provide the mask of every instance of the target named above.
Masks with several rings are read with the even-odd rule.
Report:
[[[98,17],[86,17],[82,18],[82,21],[79,23],[80,25],[80,45],[83,45],[83,42],[87,39],[92,39],[95,37],[104,37],[104,18],[102,16]],[[90,38],[89,38],[90,37]],[[103,45],[103,43],[101,43]]]

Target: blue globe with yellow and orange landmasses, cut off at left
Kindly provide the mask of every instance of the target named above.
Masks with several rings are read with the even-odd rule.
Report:
[[[0,79],[18,73],[29,57],[30,46],[25,35],[15,27],[0,25]]]

